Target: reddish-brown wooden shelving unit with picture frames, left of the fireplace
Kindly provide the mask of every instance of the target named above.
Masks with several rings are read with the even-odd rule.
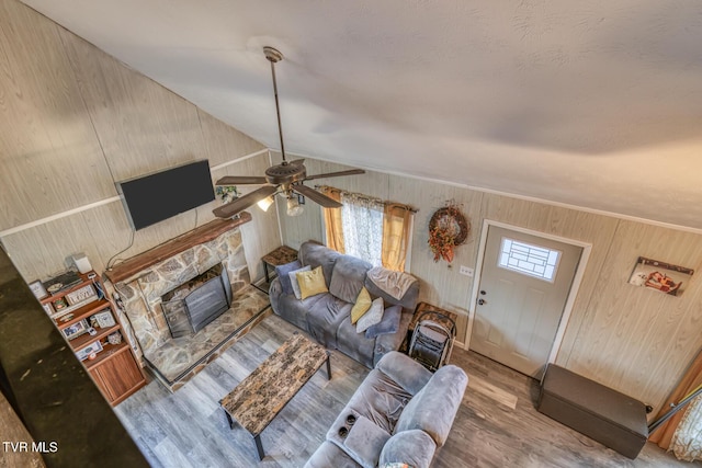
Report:
[[[114,306],[104,295],[102,281],[94,272],[79,276],[80,283],[39,301],[76,355],[82,358],[102,395],[115,406],[145,386],[146,379],[124,335]],[[98,320],[95,315],[102,315],[103,320]],[[92,334],[91,330],[94,330]],[[115,340],[117,335],[118,340]],[[89,346],[95,352],[87,353]]]

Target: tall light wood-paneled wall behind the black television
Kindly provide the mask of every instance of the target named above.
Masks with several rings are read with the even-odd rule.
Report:
[[[114,197],[114,182],[208,159],[213,179],[262,173],[264,147],[15,0],[0,1],[0,231]],[[245,158],[263,150],[260,155]],[[186,190],[176,187],[174,190]],[[126,259],[214,218],[215,201],[134,233]],[[281,243],[275,213],[241,228],[252,278]],[[4,236],[26,281],[129,246],[120,202]]]

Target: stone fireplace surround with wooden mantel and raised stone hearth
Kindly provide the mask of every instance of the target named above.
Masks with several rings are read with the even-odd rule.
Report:
[[[144,363],[170,391],[182,387],[270,310],[268,296],[250,284],[238,228],[248,219],[250,215],[244,220],[212,221],[105,274],[122,298]],[[231,307],[196,334],[171,338],[161,296],[217,263],[227,269]]]

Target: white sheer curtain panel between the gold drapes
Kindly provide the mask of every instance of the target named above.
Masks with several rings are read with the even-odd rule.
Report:
[[[346,253],[382,265],[383,204],[380,201],[341,193],[341,219]]]

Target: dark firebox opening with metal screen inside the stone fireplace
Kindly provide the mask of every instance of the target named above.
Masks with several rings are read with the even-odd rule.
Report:
[[[197,333],[230,306],[231,284],[222,264],[161,296],[161,309],[173,338]]]

